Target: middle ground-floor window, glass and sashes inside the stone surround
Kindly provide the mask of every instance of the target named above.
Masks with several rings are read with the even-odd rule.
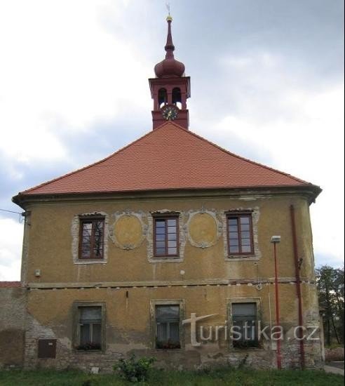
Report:
[[[156,348],[180,349],[180,305],[156,305]]]

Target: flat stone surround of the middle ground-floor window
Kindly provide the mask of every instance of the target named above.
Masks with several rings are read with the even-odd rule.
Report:
[[[157,343],[157,324],[156,324],[156,306],[165,305],[177,305],[180,311],[179,320],[179,340],[180,347],[176,348],[158,348]],[[150,319],[151,319],[151,347],[154,350],[182,350],[184,349],[184,328],[182,321],[184,320],[184,300],[183,299],[172,299],[172,300],[150,300]]]

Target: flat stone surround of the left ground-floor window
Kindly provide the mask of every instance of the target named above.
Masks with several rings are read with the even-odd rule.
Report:
[[[80,308],[81,307],[100,307],[101,308],[101,347],[100,349],[81,349],[80,346]],[[76,352],[104,352],[106,350],[106,308],[105,302],[74,302],[73,303],[73,347]]]

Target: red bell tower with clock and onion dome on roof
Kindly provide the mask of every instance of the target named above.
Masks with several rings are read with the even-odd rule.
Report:
[[[154,67],[156,78],[149,79],[151,98],[154,100],[153,128],[161,126],[166,121],[174,121],[188,130],[187,98],[191,96],[191,79],[184,76],[184,64],[174,58],[175,46],[172,44],[170,14],[166,21],[168,36],[165,59]]]

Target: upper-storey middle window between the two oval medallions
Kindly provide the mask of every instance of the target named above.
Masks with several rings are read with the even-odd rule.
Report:
[[[154,218],[154,255],[178,256],[178,217]]]

